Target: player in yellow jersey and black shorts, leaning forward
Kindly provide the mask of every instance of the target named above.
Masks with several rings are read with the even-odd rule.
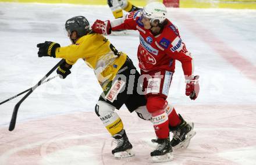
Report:
[[[112,154],[117,158],[133,156],[133,146],[115,109],[125,104],[130,112],[135,111],[142,119],[151,120],[145,107],[145,96],[137,93],[142,91],[138,83],[140,74],[125,53],[119,52],[103,35],[90,30],[86,17],[72,17],[66,21],[65,28],[72,45],[61,47],[56,42],[45,41],[37,44],[38,56],[65,59],[57,69],[62,78],[71,73],[70,69],[78,59],[83,59],[94,70],[103,90],[95,105],[95,113],[118,141]]]

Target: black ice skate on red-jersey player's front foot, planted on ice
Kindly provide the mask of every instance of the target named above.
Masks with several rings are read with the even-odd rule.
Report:
[[[173,160],[170,139],[158,139],[157,148],[150,153],[153,162],[167,162]]]

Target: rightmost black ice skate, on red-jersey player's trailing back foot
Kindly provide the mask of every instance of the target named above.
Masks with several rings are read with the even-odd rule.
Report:
[[[187,148],[189,146],[190,139],[196,134],[196,132],[193,131],[194,123],[187,123],[180,114],[179,117],[182,121],[172,131],[173,138],[172,141],[170,141],[170,145],[172,145],[174,149]]]

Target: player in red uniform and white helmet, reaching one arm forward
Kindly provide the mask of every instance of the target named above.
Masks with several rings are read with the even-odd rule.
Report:
[[[151,152],[154,162],[173,159],[173,148],[186,148],[195,135],[194,123],[187,123],[174,107],[166,109],[166,98],[175,71],[175,61],[182,63],[186,79],[186,95],[194,100],[198,96],[199,76],[193,75],[193,58],[180,38],[179,30],[166,19],[167,11],[160,2],[152,2],[143,10],[131,12],[126,17],[113,21],[96,20],[93,30],[111,34],[116,30],[138,30],[140,45],[137,56],[141,75],[144,75],[144,89],[147,96],[147,110],[152,114],[152,123],[158,137],[157,148]],[[172,141],[169,131],[173,132]]]

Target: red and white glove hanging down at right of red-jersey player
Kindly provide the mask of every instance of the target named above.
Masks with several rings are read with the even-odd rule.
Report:
[[[199,93],[199,84],[198,84],[199,76],[194,76],[193,78],[189,78],[186,80],[186,95],[190,97],[191,100],[195,100]]]

